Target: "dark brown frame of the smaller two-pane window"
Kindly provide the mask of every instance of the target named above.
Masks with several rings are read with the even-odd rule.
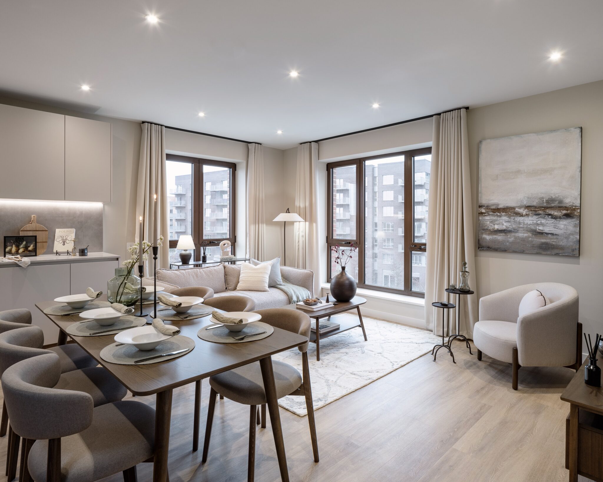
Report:
[[[225,161],[214,161],[200,157],[189,157],[188,155],[166,154],[166,161],[186,162],[192,164],[192,239],[195,243],[195,261],[201,260],[201,242],[207,241],[208,246],[218,246],[222,241],[229,240],[232,245],[232,253],[235,253],[236,245],[236,164]],[[227,238],[203,237],[203,166],[228,167],[230,169],[230,227]],[[169,247],[175,248],[177,239],[169,240]]]

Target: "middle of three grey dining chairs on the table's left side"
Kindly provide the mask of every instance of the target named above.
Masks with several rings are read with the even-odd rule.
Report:
[[[0,375],[4,374],[15,363],[19,363],[19,361],[53,354],[57,358],[59,370],[56,389],[86,392],[95,406],[121,400],[127,394],[125,387],[102,367],[87,367],[65,372],[62,357],[53,351],[43,349],[43,342],[44,333],[41,328],[36,326],[28,326],[0,333]],[[4,385],[2,387],[4,389]],[[6,397],[5,404],[8,405]],[[25,439],[27,437],[14,428],[13,421],[10,418],[10,410],[8,406],[6,408],[8,420],[10,421],[6,475],[8,475],[8,481],[10,482],[16,475],[19,440],[21,437]],[[24,448],[26,443],[24,442]]]

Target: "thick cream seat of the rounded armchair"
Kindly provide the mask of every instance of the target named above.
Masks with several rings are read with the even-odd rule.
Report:
[[[517,324],[508,321],[478,321],[473,327],[473,343],[496,360],[513,363],[517,346]]]

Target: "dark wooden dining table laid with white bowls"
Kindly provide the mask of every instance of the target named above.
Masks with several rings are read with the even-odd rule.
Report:
[[[106,301],[106,295],[99,301]],[[54,301],[36,303],[36,307],[43,311]],[[159,307],[159,305],[158,305]],[[219,311],[219,310],[218,310]],[[143,306],[143,315],[150,320],[153,305]],[[133,315],[139,316],[139,305]],[[68,336],[65,330],[74,323],[82,321],[79,315],[46,315],[60,330],[58,344],[64,345]],[[279,461],[280,477],[283,482],[289,480],[285,444],[280,424],[279,403],[274,384],[274,372],[271,356],[303,345],[308,339],[297,333],[274,328],[274,333],[262,340],[240,343],[213,343],[201,340],[197,331],[201,327],[212,324],[210,316],[203,318],[182,320],[177,322],[166,321],[180,328],[180,334],[188,336],[195,342],[195,348],[181,357],[153,363],[151,365],[116,365],[104,361],[100,357],[103,348],[111,345],[115,334],[106,336],[74,336],[72,339],[81,346],[91,357],[98,361],[115,378],[117,378],[134,395],[156,395],[155,413],[155,452],[153,466],[153,481],[165,482],[168,477],[168,449],[169,427],[172,412],[172,392],[175,388],[189,383],[195,383],[195,390],[200,393],[201,380],[238,368],[239,366],[259,361],[262,369],[262,379],[266,390],[268,413],[274,434],[277,458]],[[195,406],[195,427],[198,427],[200,407]],[[195,434],[198,440],[198,433]]]

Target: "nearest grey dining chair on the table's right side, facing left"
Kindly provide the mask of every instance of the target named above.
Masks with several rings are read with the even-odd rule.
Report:
[[[305,337],[310,336],[310,318],[301,311],[288,308],[268,308],[257,310],[254,313],[262,315],[262,322],[282,330],[292,331]],[[253,343],[253,342],[250,342]],[[287,395],[301,395],[306,398],[308,409],[308,422],[312,439],[314,462],[318,462],[318,440],[314,421],[314,405],[312,404],[312,390],[310,387],[310,369],[308,363],[308,343],[298,347],[301,352],[303,375],[288,363],[272,361],[274,382],[276,384],[277,398]],[[247,459],[247,481],[254,478],[255,450],[256,450],[256,424],[258,408],[262,406],[262,428],[266,427],[266,393],[264,380],[259,361],[244,365],[233,370],[213,375],[209,378],[211,391],[209,394],[209,408],[207,410],[207,426],[205,429],[205,442],[203,445],[202,462],[207,461],[209,440],[212,434],[213,413],[216,405],[216,396],[224,395],[226,398],[243,405],[250,405],[249,420],[249,454]]]

